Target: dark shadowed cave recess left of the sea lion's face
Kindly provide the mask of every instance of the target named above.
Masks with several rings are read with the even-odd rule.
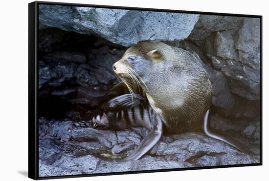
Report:
[[[57,28],[40,31],[39,117],[90,120],[118,80],[112,64],[126,47]]]

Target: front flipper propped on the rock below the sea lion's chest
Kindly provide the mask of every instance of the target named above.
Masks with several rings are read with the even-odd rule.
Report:
[[[138,160],[160,140],[163,131],[163,122],[157,114],[154,117],[155,124],[151,132],[141,141],[140,145],[134,149],[134,152],[130,156],[122,160],[114,160],[116,163]]]

